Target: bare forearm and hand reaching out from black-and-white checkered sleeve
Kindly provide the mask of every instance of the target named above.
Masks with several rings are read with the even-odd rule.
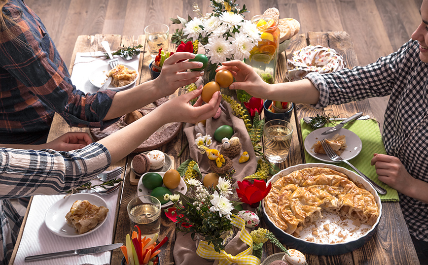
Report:
[[[228,69],[235,77],[236,82],[229,89],[242,89],[256,98],[310,104],[316,104],[320,98],[318,90],[307,79],[270,85],[251,66],[238,60],[224,62],[219,69]]]

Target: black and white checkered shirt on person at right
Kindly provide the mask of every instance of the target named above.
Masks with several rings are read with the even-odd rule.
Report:
[[[428,182],[428,64],[419,59],[418,41],[368,66],[306,77],[320,91],[316,107],[391,95],[383,128],[387,154],[399,158],[414,178]],[[428,204],[399,197],[410,233],[428,241]]]

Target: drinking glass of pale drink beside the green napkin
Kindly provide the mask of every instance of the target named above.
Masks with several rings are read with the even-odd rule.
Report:
[[[271,163],[285,161],[290,152],[293,126],[285,120],[270,120],[263,127],[264,155]]]

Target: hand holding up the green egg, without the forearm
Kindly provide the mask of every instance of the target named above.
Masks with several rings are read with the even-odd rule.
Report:
[[[204,71],[185,71],[203,66],[201,62],[187,60],[193,58],[195,58],[193,53],[178,52],[165,60],[159,77],[154,79],[156,87],[162,91],[163,97],[173,94],[179,87],[195,83],[204,74]],[[180,60],[186,61],[178,63]]]

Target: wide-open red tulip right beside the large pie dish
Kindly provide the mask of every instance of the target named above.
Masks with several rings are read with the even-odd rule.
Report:
[[[251,207],[257,208],[259,202],[268,195],[272,184],[269,183],[266,187],[266,182],[263,180],[255,179],[254,183],[251,184],[249,180],[244,179],[242,182],[238,181],[238,187],[239,189],[236,189],[236,193],[239,199],[244,203],[250,204]]]

